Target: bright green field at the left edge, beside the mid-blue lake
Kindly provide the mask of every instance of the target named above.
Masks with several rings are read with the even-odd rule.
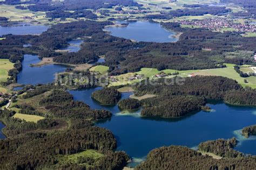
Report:
[[[0,59],[0,81],[6,81],[8,71],[14,68],[14,63],[11,63],[9,59]]]

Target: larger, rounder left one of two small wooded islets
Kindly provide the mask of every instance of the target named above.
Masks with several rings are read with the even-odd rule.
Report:
[[[102,104],[116,104],[121,98],[121,93],[114,87],[110,87],[93,92],[91,97]]]

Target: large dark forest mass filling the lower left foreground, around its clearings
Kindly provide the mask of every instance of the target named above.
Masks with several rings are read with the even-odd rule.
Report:
[[[24,93],[25,92],[25,93]],[[124,152],[113,152],[117,141],[104,128],[93,126],[92,121],[111,117],[104,110],[73,101],[63,87],[54,85],[25,86],[20,92],[24,101],[12,106],[20,113],[45,117],[37,123],[12,117],[15,111],[1,110],[0,120],[8,137],[0,141],[1,169],[122,169],[129,160]],[[42,112],[40,112],[40,111]],[[69,155],[93,149],[103,154],[100,158],[62,161]]]

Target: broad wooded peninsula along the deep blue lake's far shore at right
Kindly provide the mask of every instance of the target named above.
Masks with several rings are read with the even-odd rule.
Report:
[[[184,78],[182,84],[176,80],[178,77],[160,78],[150,84],[146,79],[135,85],[136,96],[157,96],[142,100],[143,116],[180,117],[201,110],[207,99],[254,106],[255,91],[243,89],[235,80],[217,76]]]

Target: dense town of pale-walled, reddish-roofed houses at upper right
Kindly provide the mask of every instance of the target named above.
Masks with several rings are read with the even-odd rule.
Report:
[[[221,29],[233,29],[238,32],[256,32],[256,25],[254,24],[242,24],[242,23],[234,23],[232,19],[227,18],[207,18],[202,20],[184,20],[180,21],[180,24],[183,25],[193,25],[199,26],[200,28],[207,28],[214,31],[220,31]]]

